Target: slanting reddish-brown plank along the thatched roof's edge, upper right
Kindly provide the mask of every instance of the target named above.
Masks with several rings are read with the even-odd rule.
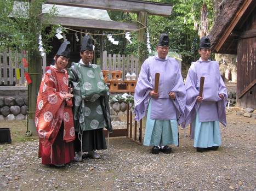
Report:
[[[219,39],[218,43],[215,45],[215,50],[217,52],[220,50],[221,46],[225,43],[226,39],[229,37],[229,35],[233,31],[233,29],[235,28],[236,24],[241,19],[241,17],[243,16],[244,12],[246,11],[246,9],[248,8],[248,6],[251,4],[252,1],[253,0],[244,1],[244,3],[241,6],[241,9],[237,11],[236,16],[231,21],[229,27],[227,27],[226,31],[221,36],[221,38]]]

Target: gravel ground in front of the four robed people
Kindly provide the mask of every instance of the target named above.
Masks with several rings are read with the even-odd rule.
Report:
[[[233,112],[227,121],[218,151],[197,153],[180,130],[171,154],[111,138],[100,159],[64,168],[41,164],[37,140],[0,145],[0,190],[256,190],[256,120]]]

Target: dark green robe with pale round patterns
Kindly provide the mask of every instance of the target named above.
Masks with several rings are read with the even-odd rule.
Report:
[[[96,64],[72,63],[69,80],[73,84],[73,117],[76,132],[106,127],[112,131],[109,88]]]

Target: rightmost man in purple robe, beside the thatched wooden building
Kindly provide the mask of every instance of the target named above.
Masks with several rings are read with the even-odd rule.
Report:
[[[218,150],[221,145],[219,122],[226,126],[227,91],[220,72],[219,63],[210,61],[211,43],[208,37],[200,40],[200,59],[191,64],[187,74],[186,120],[183,127],[191,123],[191,138],[197,152]],[[200,77],[203,76],[203,96],[199,95]]]

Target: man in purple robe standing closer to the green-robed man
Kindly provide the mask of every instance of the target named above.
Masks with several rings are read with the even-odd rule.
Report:
[[[170,153],[168,145],[179,144],[178,126],[184,121],[185,86],[178,62],[167,57],[168,45],[168,35],[161,34],[157,56],[141,66],[134,94],[135,120],[141,120],[147,110],[144,145],[153,146],[153,154]],[[160,73],[158,92],[154,91],[156,73]]]

